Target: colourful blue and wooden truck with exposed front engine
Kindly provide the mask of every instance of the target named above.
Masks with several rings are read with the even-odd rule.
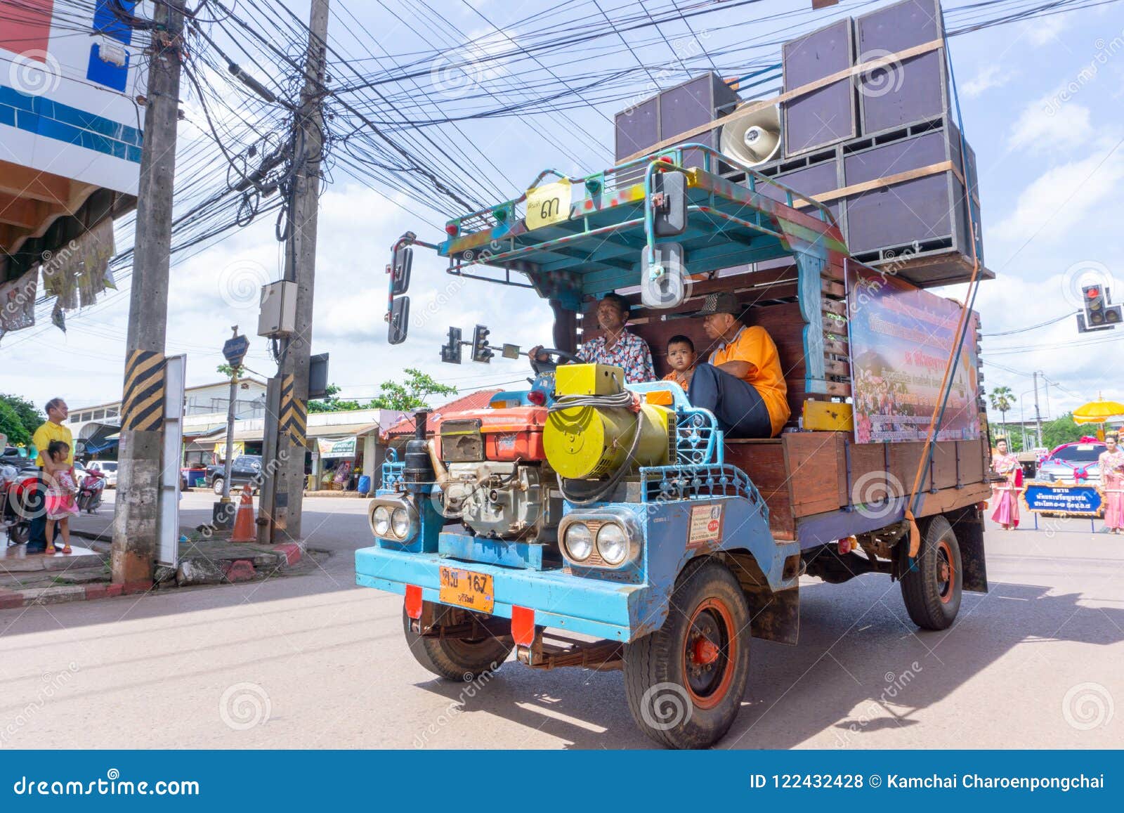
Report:
[[[525,389],[419,410],[383,467],[356,581],[404,596],[426,669],[468,680],[513,650],[532,669],[623,669],[636,724],[700,748],[737,714],[752,639],[796,643],[803,576],[896,579],[924,630],[953,623],[962,590],[987,590],[975,315],[855,263],[824,206],[687,145],[587,178],[544,172],[445,232],[393,247],[391,344],[422,246],[451,274],[549,300],[554,346]],[[582,363],[608,291],[634,302],[629,329],[660,374],[671,335],[707,346],[690,318],[701,299],[738,296],[778,346],[785,432],[726,439],[678,385]],[[442,358],[518,358],[488,333],[450,328]]]

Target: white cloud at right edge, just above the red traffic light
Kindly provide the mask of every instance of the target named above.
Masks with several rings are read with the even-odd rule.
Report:
[[[1091,213],[1103,213],[1103,204],[1117,195],[1124,181],[1124,151],[1111,153],[1112,148],[1098,144],[1085,153],[1086,157],[1043,172],[1022,191],[1014,209],[990,229],[989,236],[1019,244],[1032,237],[1040,243],[1072,241],[1070,229],[1085,223]]]

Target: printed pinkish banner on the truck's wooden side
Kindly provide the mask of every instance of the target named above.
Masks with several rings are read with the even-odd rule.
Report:
[[[847,333],[858,443],[923,441],[955,350],[961,306],[889,273],[847,263]],[[977,314],[952,369],[936,440],[980,436]]]

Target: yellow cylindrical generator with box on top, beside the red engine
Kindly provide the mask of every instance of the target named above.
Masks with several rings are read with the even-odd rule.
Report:
[[[625,389],[619,367],[566,364],[554,385],[543,448],[563,478],[593,480],[674,460],[676,413]]]

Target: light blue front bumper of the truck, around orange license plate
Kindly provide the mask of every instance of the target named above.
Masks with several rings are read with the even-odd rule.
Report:
[[[511,607],[535,611],[535,624],[595,638],[631,641],[659,629],[667,602],[653,602],[646,585],[571,576],[562,570],[526,570],[465,562],[439,553],[410,553],[386,548],[355,551],[355,584],[406,595],[407,585],[422,588],[427,602],[439,599],[439,569],[454,567],[492,577],[492,615],[511,617]],[[446,603],[447,604],[447,603]]]

